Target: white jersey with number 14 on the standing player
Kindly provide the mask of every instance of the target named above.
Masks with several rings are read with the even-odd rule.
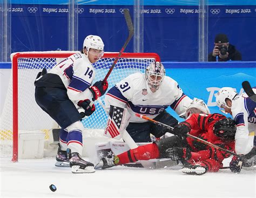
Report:
[[[95,78],[95,69],[85,54],[76,53],[53,67],[49,73],[59,75],[68,90],[71,101],[80,101],[93,97],[87,88]]]

